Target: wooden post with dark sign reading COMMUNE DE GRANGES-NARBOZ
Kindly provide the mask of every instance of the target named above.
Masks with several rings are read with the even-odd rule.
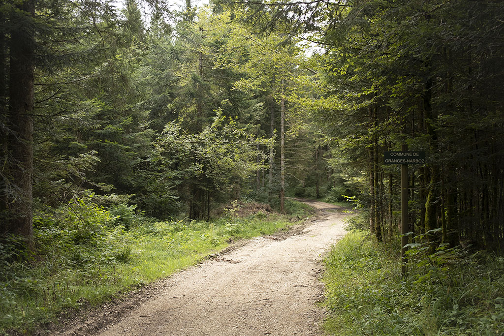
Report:
[[[425,164],[425,152],[408,152],[408,145],[402,144],[401,151],[385,152],[386,165],[401,165],[401,260],[402,274],[406,274],[406,245],[408,244],[408,165]]]

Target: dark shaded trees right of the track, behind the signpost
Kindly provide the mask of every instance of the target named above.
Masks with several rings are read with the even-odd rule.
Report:
[[[317,39],[325,52],[313,57],[321,82],[312,87],[322,97],[305,103],[331,144],[333,176],[364,195],[381,240],[383,228],[395,225],[400,194],[398,167],[384,167],[383,153],[401,143],[425,150],[429,164],[410,166],[417,231],[443,226],[443,241],[452,245],[460,237],[501,249],[497,190],[504,156],[502,138],[489,135],[504,125],[495,91],[504,69],[495,56],[504,50],[504,29],[495,24],[502,3],[357,0],[334,6]],[[377,214],[387,208],[388,216]]]

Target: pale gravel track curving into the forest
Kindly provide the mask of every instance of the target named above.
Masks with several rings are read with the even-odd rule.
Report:
[[[319,335],[322,259],[345,235],[343,208],[302,200],[322,219],[238,242],[188,270],[76,319],[59,335]]]

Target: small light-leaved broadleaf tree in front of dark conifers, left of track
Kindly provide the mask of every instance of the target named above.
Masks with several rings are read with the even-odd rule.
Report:
[[[235,182],[248,180],[258,168],[256,146],[267,144],[240,127],[236,118],[216,113],[213,122],[197,134],[185,130],[183,120],[170,122],[154,143],[149,161],[159,174],[158,185],[164,182],[166,188],[185,191],[179,193],[185,203],[206,202],[202,197],[206,193],[211,193],[209,199],[227,201]],[[202,219],[205,213],[199,209],[193,215]]]

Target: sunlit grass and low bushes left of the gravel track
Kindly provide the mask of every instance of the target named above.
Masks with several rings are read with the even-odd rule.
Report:
[[[235,208],[210,222],[143,220],[134,209],[106,211],[89,200],[35,217],[36,256],[29,261],[15,239],[0,244],[0,334],[32,333],[61,312],[98,305],[167,277],[222,250],[230,242],[286,230],[295,214]]]

